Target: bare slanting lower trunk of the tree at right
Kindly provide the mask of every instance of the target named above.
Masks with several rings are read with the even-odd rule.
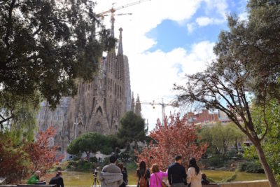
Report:
[[[265,170],[265,174],[267,176],[267,179],[269,181],[270,187],[277,187],[277,182],[274,178],[274,175],[272,173],[272,169],[269,167],[267,163],[267,159],[265,158],[265,153],[262,150],[262,146],[260,144],[255,145],[255,149],[258,153],[258,158],[260,159],[260,163],[262,164],[263,169]]]

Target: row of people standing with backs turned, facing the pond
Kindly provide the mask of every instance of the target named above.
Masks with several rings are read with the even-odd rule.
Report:
[[[106,165],[99,174],[99,180],[102,187],[125,187],[127,185],[127,171],[123,163],[116,165],[117,158],[115,155],[110,157],[110,164]],[[169,165],[167,172],[160,171],[158,164],[153,164],[151,169],[146,167],[146,162],[139,163],[137,169],[138,182],[137,187],[165,187],[167,186],[163,177],[168,178],[172,187],[201,187],[202,184],[209,184],[206,175],[202,174],[200,167],[197,166],[195,158],[189,162],[188,172],[181,165],[182,156],[177,155],[175,162]]]

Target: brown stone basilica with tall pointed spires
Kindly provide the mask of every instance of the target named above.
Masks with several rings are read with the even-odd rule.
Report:
[[[111,26],[114,36],[114,25]],[[48,102],[41,103],[36,116],[38,130],[50,125],[57,129],[53,143],[64,152],[69,141],[85,132],[114,134],[120,127],[119,121],[127,111],[141,116],[139,96],[134,99],[130,89],[130,68],[128,58],[123,54],[123,29],[119,29],[118,53],[109,51],[99,63],[99,72],[91,83],[78,81],[78,95],[63,97],[55,110],[49,109]]]

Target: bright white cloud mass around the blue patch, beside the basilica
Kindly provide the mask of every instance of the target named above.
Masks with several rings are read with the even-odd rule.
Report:
[[[208,1],[208,0],[204,0]],[[96,12],[107,11],[111,8],[112,0],[98,0]],[[132,1],[118,1],[114,7]],[[141,101],[160,102],[164,97],[166,102],[174,97],[174,83],[182,81],[183,74],[193,74],[204,69],[205,62],[214,55],[214,43],[202,41],[193,44],[190,51],[176,48],[169,53],[157,50],[145,52],[156,44],[155,39],[146,37],[146,33],[157,27],[162,20],[169,19],[183,25],[200,7],[202,0],[152,0],[119,10],[117,13],[133,13],[133,15],[116,16],[115,36],[118,38],[118,28],[123,27],[123,50],[130,62],[130,80],[134,96],[139,93]],[[223,7],[220,7],[223,9]],[[109,16],[104,20],[109,28]],[[191,32],[195,25],[187,25]],[[166,113],[174,112],[167,108]],[[161,108],[142,105],[144,118],[148,118],[150,130],[153,129],[157,118],[161,118]]]

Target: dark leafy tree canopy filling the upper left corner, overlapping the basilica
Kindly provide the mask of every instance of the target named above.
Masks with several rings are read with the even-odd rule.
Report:
[[[92,79],[115,42],[93,8],[91,0],[1,1],[0,123],[15,116],[18,101],[38,105],[39,94],[55,107],[76,94],[76,78]]]

